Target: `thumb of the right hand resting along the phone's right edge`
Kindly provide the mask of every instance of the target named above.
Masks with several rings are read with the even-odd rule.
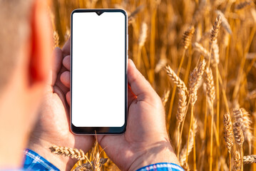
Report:
[[[155,95],[155,90],[130,59],[128,60],[128,83],[133,93],[137,96],[137,100],[143,100],[145,97],[153,98]]]

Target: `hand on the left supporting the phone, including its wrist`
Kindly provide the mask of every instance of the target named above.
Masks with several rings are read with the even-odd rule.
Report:
[[[29,139],[28,148],[39,153],[59,170],[71,170],[76,159],[60,157],[51,153],[52,145],[73,147],[88,152],[95,141],[93,136],[73,135],[69,129],[69,105],[66,103],[69,92],[69,68],[62,66],[63,56],[69,56],[70,41],[53,51],[53,66],[49,75],[44,97],[42,98],[39,118]],[[69,63],[68,63],[69,65]],[[68,73],[68,77],[66,77]],[[61,76],[61,74],[63,76]],[[66,75],[66,76],[65,76]],[[68,81],[63,86],[61,79]]]

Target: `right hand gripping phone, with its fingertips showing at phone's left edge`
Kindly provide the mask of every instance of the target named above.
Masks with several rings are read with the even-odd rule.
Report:
[[[69,68],[69,60],[64,58],[63,65]],[[64,85],[69,83],[69,80],[62,81]],[[126,133],[98,135],[98,143],[121,170],[137,170],[157,162],[179,165],[165,128],[162,101],[131,60],[128,61],[128,83]]]

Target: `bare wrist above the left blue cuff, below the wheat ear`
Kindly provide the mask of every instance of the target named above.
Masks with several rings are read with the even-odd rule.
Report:
[[[76,159],[71,159],[70,157],[65,157],[61,155],[56,155],[49,150],[53,144],[50,142],[46,142],[43,140],[36,140],[29,142],[29,149],[41,155],[43,158],[51,162],[54,166],[56,166],[59,170],[71,170],[73,165],[76,164]]]

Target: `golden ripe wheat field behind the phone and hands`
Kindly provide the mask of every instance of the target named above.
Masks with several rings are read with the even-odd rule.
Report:
[[[69,38],[78,8],[127,11],[128,56],[162,97],[185,170],[256,170],[255,1],[54,0],[55,46]],[[73,169],[99,163],[98,151],[96,144]],[[94,170],[118,168],[108,160]]]

